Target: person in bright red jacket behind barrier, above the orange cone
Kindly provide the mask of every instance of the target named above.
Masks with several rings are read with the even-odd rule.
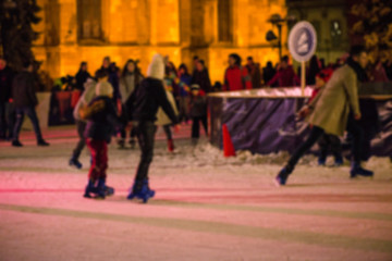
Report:
[[[223,90],[252,89],[252,78],[246,67],[241,65],[241,57],[229,55],[229,67],[224,73]]]

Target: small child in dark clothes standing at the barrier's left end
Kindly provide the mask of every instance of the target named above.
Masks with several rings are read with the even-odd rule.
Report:
[[[200,122],[205,129],[206,136],[208,135],[207,98],[198,84],[193,84],[191,86],[191,92],[189,115],[192,117],[192,144],[197,145],[198,138],[200,136]]]

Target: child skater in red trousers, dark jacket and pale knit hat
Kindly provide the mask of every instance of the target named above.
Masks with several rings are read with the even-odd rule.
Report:
[[[85,198],[105,199],[114,194],[114,189],[106,185],[108,169],[108,144],[118,124],[118,113],[112,102],[113,87],[108,82],[100,82],[96,86],[96,98],[88,108],[82,110],[84,119],[88,119],[86,126],[86,142],[91,153],[91,166],[88,172],[88,183]]]

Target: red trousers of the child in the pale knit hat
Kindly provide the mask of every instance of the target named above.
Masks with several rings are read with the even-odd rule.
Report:
[[[87,139],[87,146],[91,152],[91,166],[88,178],[93,182],[107,177],[108,145],[106,140]]]

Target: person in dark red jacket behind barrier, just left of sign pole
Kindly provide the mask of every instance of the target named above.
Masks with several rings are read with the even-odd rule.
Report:
[[[267,85],[273,86],[274,84],[278,84],[278,87],[291,87],[299,85],[299,78],[295,74],[293,66],[289,65],[289,57],[284,55],[281,59],[281,63],[279,64],[278,72],[271,78]]]

